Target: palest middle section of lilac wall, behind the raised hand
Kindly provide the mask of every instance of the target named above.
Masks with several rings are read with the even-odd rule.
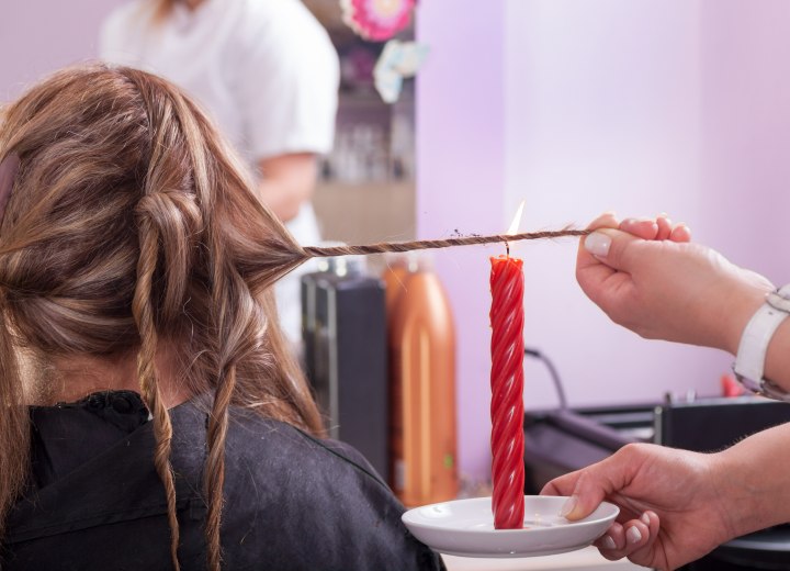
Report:
[[[666,211],[696,227],[699,8],[688,0],[509,0],[507,205],[524,227],[585,225],[600,212]],[[576,242],[524,244],[528,345],[551,356],[574,405],[716,390],[713,351],[645,342],[611,324],[574,278]],[[556,403],[527,363],[527,406]]]

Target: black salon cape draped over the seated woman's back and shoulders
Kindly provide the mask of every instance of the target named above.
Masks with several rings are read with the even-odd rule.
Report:
[[[206,415],[171,411],[179,560],[205,569]],[[2,571],[170,570],[170,530],[148,413],[134,392],[34,407],[33,486],[12,512]],[[223,569],[432,570],[439,556],[352,448],[234,408],[225,454]]]

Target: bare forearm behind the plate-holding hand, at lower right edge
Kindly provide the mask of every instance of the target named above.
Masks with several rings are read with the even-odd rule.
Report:
[[[790,424],[757,433],[715,456],[730,537],[790,522]],[[712,514],[716,506],[711,506]]]

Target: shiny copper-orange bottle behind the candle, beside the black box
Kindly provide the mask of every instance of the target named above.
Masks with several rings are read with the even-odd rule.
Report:
[[[455,332],[439,277],[425,262],[410,266],[384,279],[399,290],[387,292],[391,481],[406,506],[417,506],[458,495]]]

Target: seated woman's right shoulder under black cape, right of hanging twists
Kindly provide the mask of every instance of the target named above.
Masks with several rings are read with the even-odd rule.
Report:
[[[404,507],[352,447],[234,410],[225,449],[224,540],[266,544],[272,568],[440,569]],[[226,544],[227,545],[227,544]],[[242,568],[240,550],[232,568]]]

